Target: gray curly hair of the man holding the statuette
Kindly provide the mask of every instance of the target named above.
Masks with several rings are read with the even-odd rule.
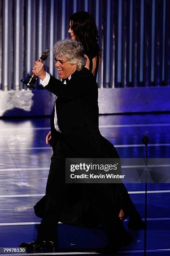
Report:
[[[84,57],[84,49],[79,41],[65,38],[58,41],[53,48],[54,55],[64,57],[69,60],[69,63],[74,65],[77,63],[76,69],[80,71],[87,62]]]

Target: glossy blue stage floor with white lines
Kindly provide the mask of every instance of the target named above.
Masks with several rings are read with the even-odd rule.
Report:
[[[33,205],[44,195],[52,149],[45,144],[50,118],[0,120],[0,247],[18,247],[36,238],[40,218]],[[144,135],[150,138],[150,158],[170,158],[170,114],[100,115],[100,132],[121,158],[145,158]],[[145,184],[126,184],[144,218]],[[148,184],[147,255],[170,254],[170,185]],[[128,221],[124,224],[127,227]],[[60,252],[25,255],[97,254],[104,246],[103,230],[59,224]],[[130,231],[133,243],[118,255],[143,255],[144,231]],[[8,255],[2,253],[0,254]],[[12,255],[20,255],[15,253]]]

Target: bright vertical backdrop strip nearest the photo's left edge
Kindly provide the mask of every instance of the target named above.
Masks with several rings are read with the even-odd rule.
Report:
[[[3,51],[4,51],[4,90],[7,91],[7,85],[8,85],[8,0],[5,0],[4,3],[4,27],[3,27],[3,31],[4,31],[4,45],[3,45]]]

